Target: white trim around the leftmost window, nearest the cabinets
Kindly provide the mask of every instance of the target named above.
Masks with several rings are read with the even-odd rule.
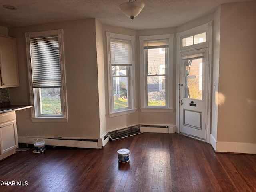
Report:
[[[59,50],[60,50],[60,73],[61,73],[61,108],[62,116],[39,116],[38,112],[38,103],[37,102],[38,94],[34,93],[33,84],[32,84],[32,68],[31,68],[31,57],[30,57],[30,38],[42,37],[42,36],[52,36],[58,35],[59,39]],[[68,104],[67,104],[67,94],[66,94],[66,76],[65,76],[65,62],[64,62],[64,44],[63,44],[63,29],[58,30],[49,30],[41,32],[26,32],[26,54],[28,62],[28,83],[30,89],[30,103],[34,106],[31,108],[31,120],[32,122],[68,122]],[[39,103],[40,104],[40,103]]]

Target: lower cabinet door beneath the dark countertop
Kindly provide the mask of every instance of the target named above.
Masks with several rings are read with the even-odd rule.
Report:
[[[18,135],[16,121],[0,125],[0,154],[18,148]]]

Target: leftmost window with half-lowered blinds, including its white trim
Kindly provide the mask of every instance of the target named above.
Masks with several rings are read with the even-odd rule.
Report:
[[[63,29],[25,38],[32,122],[68,122]]]

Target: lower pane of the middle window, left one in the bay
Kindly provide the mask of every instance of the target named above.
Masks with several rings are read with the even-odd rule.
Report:
[[[128,107],[128,78],[113,77],[114,109]]]

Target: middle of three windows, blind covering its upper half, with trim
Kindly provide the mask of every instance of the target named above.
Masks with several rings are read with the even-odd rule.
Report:
[[[107,32],[109,116],[136,112],[134,36]]]

